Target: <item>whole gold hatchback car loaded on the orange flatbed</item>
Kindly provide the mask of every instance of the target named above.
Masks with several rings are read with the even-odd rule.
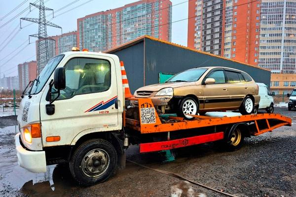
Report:
[[[227,67],[200,67],[180,72],[164,84],[139,88],[136,98],[150,98],[160,113],[177,113],[185,119],[208,111],[237,110],[251,114],[260,96],[246,72]]]

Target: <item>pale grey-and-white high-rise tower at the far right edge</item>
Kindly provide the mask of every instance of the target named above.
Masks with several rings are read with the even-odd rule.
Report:
[[[296,73],[296,0],[261,1],[259,66]]]

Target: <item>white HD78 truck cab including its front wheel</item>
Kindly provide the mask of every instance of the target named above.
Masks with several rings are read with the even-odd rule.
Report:
[[[117,56],[74,51],[52,58],[23,93],[15,136],[19,165],[38,173],[69,162],[79,182],[104,181],[122,150],[123,107]]]

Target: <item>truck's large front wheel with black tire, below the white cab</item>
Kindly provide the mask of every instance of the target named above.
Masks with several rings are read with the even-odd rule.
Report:
[[[91,186],[107,180],[114,173],[116,164],[114,146],[104,139],[91,139],[74,151],[69,167],[79,184]]]

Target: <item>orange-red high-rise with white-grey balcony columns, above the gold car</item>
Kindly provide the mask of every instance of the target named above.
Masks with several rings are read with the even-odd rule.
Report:
[[[260,0],[191,0],[187,46],[257,65]]]

